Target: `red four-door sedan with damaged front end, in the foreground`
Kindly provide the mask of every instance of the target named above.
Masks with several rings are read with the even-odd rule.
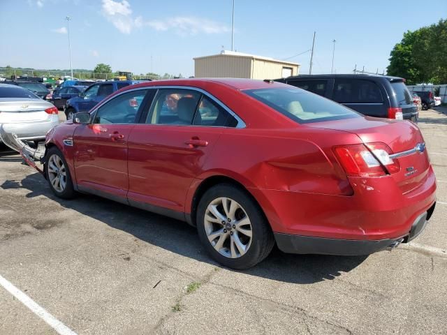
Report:
[[[61,198],[93,193],[195,225],[221,264],[365,255],[416,237],[436,179],[418,126],[270,80],[126,87],[46,138]]]

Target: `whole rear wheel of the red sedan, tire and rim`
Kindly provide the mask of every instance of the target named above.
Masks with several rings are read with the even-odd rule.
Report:
[[[261,208],[233,185],[219,184],[206,191],[196,222],[208,253],[226,267],[248,269],[272,251],[274,237]]]

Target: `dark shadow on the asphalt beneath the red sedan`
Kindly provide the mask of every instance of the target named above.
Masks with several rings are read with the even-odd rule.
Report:
[[[27,198],[44,195],[63,207],[90,216],[112,228],[128,232],[148,244],[200,262],[207,262],[215,267],[222,267],[207,255],[200,244],[196,228],[182,221],[94,195],[79,195],[74,200],[59,199],[53,195],[42,179],[41,174],[35,173],[22,179],[20,184],[17,181],[5,181],[0,187],[3,189],[26,188],[30,191]],[[243,272],[274,281],[310,284],[331,280],[343,272],[349,272],[358,267],[366,258],[367,256],[291,255],[282,253],[275,246],[268,258],[256,267]]]

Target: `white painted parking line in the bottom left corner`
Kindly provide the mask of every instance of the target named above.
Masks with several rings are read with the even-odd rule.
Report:
[[[39,318],[47,322],[48,325],[50,325],[56,332],[58,332],[61,335],[76,335],[73,330],[66,327],[62,322],[57,320],[57,318],[54,318],[53,315],[45,311],[44,308],[36,304],[36,302],[24,294],[21,290],[16,288],[13,284],[11,284],[9,281],[7,281],[5,278],[3,278],[0,275],[0,285],[5,288],[8,292],[10,292],[11,295],[16,297],[19,301],[22,302],[25,306],[27,306],[31,311],[36,314]]]

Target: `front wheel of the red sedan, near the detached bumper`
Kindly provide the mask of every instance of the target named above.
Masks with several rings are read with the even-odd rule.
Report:
[[[73,181],[64,155],[57,147],[51,147],[47,152],[45,176],[51,191],[59,198],[71,199],[75,196]]]

